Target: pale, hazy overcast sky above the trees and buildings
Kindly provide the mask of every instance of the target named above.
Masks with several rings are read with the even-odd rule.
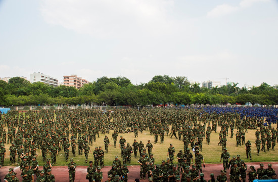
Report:
[[[0,0],[0,77],[278,84],[277,0]]]

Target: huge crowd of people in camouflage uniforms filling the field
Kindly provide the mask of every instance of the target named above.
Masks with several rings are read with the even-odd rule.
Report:
[[[249,179],[252,179],[252,176],[259,179],[272,178],[275,172],[271,164],[265,171],[259,169],[256,171],[252,166],[250,170],[247,170],[245,162],[240,159],[239,155],[237,159],[236,156],[230,159],[226,149],[226,136],[230,131],[230,138],[233,138],[234,129],[237,129],[235,134],[237,146],[245,145],[247,158],[252,160],[251,143],[249,140],[245,141],[245,132],[248,132],[248,129],[257,129],[255,133],[257,155],[260,151],[269,151],[270,148],[274,150],[275,143],[278,142],[278,130],[271,127],[271,123],[276,123],[277,113],[275,108],[259,108],[258,110],[217,107],[116,109],[106,112],[96,109],[41,110],[24,114],[11,111],[0,117],[0,166],[4,165],[7,153],[5,144],[11,143],[10,165],[20,166],[23,181],[34,180],[34,175],[37,181],[55,181],[51,168],[53,164],[56,164],[56,156],[63,149],[67,162],[69,153],[72,152],[73,156],[76,156],[76,150],[78,150],[78,155],[84,152],[86,163],[89,152],[94,156],[94,162],[89,161],[86,179],[102,181],[101,168],[104,166],[104,152],[108,152],[111,146],[108,134],[110,130],[113,130],[111,140],[113,139],[114,147],[116,147],[117,139],[119,139],[122,162],[118,156],[115,157],[111,164],[112,168],[107,174],[108,181],[127,181],[127,166],[133,154],[135,158],[138,158],[138,164],[141,166],[140,177],[142,179],[147,177],[150,181],[203,182],[202,164],[205,167],[205,160],[200,154],[203,150],[203,140],[206,138],[206,143],[209,145],[211,132],[216,132],[218,126],[220,127],[218,145],[222,146],[223,170],[221,175],[217,176],[217,181],[227,180],[226,171],[229,168],[231,181],[239,181],[241,178],[245,181],[244,174],[249,175]],[[268,126],[264,126],[265,121],[268,122]],[[164,135],[169,135],[170,138],[174,136],[183,142],[183,150],[179,150],[175,155],[174,146],[170,144],[166,161],[162,160],[161,163],[155,164],[151,142],[148,141],[144,146],[142,141],[139,143],[136,141],[138,132],[144,130],[154,135],[155,143],[159,142],[158,136],[160,136],[160,143],[164,142]],[[134,132],[135,139],[132,145],[126,145],[126,140],[120,135],[127,132]],[[106,134],[105,151],[101,146],[91,151],[89,145],[96,142],[96,137],[100,133]],[[37,150],[41,151],[45,162],[42,171],[38,169]],[[191,153],[192,150],[194,154]],[[48,152],[51,159],[47,157]],[[175,157],[178,160],[177,164],[173,164]],[[74,159],[70,159],[68,164],[70,181],[75,179],[75,168]],[[211,181],[215,181],[214,174],[211,174],[211,178]],[[16,173],[12,168],[5,177],[5,181],[17,181]]]

